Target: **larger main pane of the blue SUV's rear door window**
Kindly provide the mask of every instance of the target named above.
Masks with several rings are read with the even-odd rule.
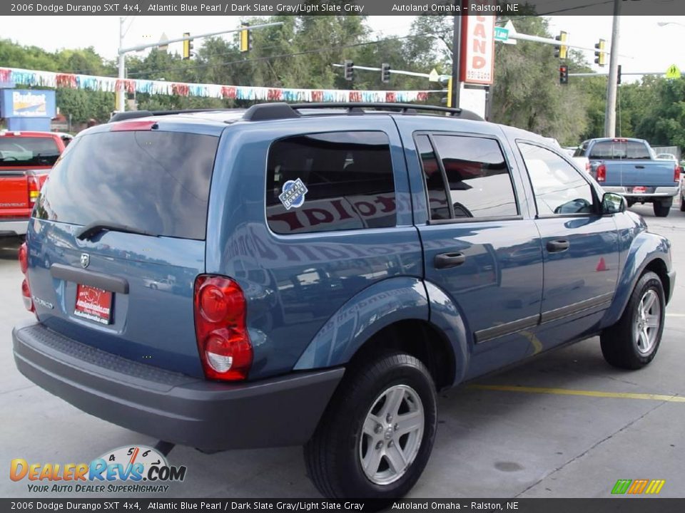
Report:
[[[508,217],[518,214],[507,162],[496,140],[435,135],[445,167],[455,217]]]

